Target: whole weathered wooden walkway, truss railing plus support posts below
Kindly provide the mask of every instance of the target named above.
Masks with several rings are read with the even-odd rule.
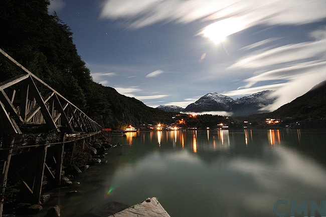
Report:
[[[30,191],[34,203],[40,203],[45,171],[50,172],[50,176],[60,185],[65,145],[74,145],[75,141],[81,139],[90,139],[99,133],[102,127],[1,49],[0,58],[4,58],[22,72],[20,76],[0,83],[0,171],[2,171],[0,184],[2,193],[6,189],[13,155],[28,152],[28,154],[22,154],[25,161],[29,162],[28,166],[23,165],[27,171],[21,169],[15,171],[15,174],[18,174],[26,189]],[[50,143],[36,140],[31,144],[30,140],[24,136],[31,132],[30,129],[33,129],[34,133],[55,134],[57,139]],[[49,160],[56,165],[55,174],[47,165]],[[3,202],[2,198],[0,217]]]

